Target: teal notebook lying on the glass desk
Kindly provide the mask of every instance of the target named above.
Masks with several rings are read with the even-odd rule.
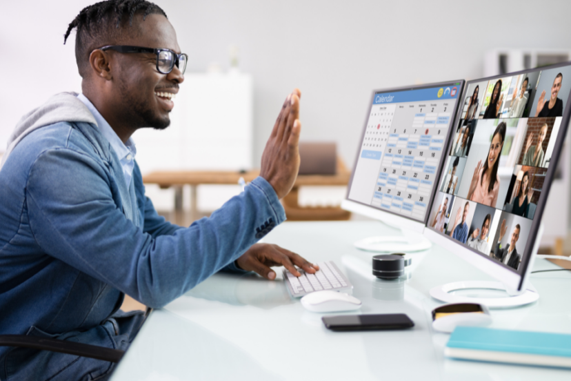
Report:
[[[463,360],[571,368],[571,335],[458,326],[444,354]]]

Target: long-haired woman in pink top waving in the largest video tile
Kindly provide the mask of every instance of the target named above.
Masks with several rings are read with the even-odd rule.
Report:
[[[470,201],[479,202],[480,204],[496,207],[499,192],[498,166],[501,148],[505,140],[505,122],[501,122],[494,130],[492,135],[492,144],[488,151],[488,157],[484,164],[480,160],[474,169],[472,182],[468,190],[468,199]]]

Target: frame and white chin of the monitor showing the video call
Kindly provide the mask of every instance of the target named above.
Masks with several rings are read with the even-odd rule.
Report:
[[[525,69],[517,72],[507,72],[501,75],[494,75],[492,77],[483,77],[479,79],[472,79],[470,81],[466,81],[462,91],[461,101],[459,103],[463,103],[465,97],[468,95],[467,94],[468,87],[470,87],[471,84],[483,81],[492,81],[494,79],[505,78],[505,77],[514,77],[516,75],[527,74],[530,72],[561,68],[563,66],[571,66],[571,61],[564,62],[561,64],[554,64],[550,66],[542,66],[541,68]],[[534,98],[533,100],[535,101],[536,99]],[[456,118],[454,119],[454,128],[456,128],[456,126],[458,126],[458,124],[460,123],[461,115],[462,115],[462,110],[459,108],[457,110]],[[554,158],[555,159],[554,162],[557,162],[557,164],[559,164],[561,150],[563,149],[563,144],[565,141],[565,135],[567,134],[570,117],[571,117],[571,97],[568,97],[567,104],[565,104],[565,108],[563,110],[563,115],[561,115],[561,124],[559,126],[559,133],[557,134],[557,138],[551,155],[552,162]],[[509,119],[509,118],[499,118],[499,119]],[[448,139],[447,152],[450,149],[450,144],[452,144],[452,141],[451,139]],[[454,253],[455,255],[458,255],[459,257],[463,258],[470,264],[479,268],[481,271],[484,271],[488,275],[499,280],[505,286],[508,286],[510,289],[517,292],[523,292],[525,291],[525,282],[527,281],[531,270],[530,263],[533,262],[532,252],[534,251],[534,248],[537,248],[537,246],[539,246],[537,245],[537,242],[535,242],[535,239],[537,238],[537,233],[540,230],[541,218],[543,217],[543,211],[545,210],[545,204],[547,202],[547,198],[549,195],[549,191],[551,188],[556,168],[557,165],[553,166],[551,164],[547,168],[547,173],[545,174],[545,181],[543,183],[544,185],[543,188],[541,189],[541,195],[539,196],[539,200],[537,202],[537,208],[535,209],[534,218],[532,219],[532,225],[530,228],[530,233],[528,235],[528,241],[525,243],[525,250],[521,254],[521,273],[515,271],[513,268],[503,266],[503,264],[491,260],[488,255],[484,255],[483,253],[480,253],[475,249],[454,242],[452,238],[447,237],[444,233],[439,233],[437,231],[434,231],[430,226],[425,226],[424,234],[427,236],[428,239],[432,240],[432,242],[435,242],[445,248],[448,248],[448,250],[452,251],[452,253]],[[440,175],[442,175],[442,173],[440,173]],[[433,197],[431,199],[430,210],[432,210],[432,207],[434,206],[434,199],[436,199],[436,197]],[[541,239],[541,237],[539,238]]]

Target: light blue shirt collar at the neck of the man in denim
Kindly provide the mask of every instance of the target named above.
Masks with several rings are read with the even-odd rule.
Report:
[[[119,139],[117,133],[113,130],[113,128],[108,124],[108,122],[103,118],[103,115],[99,113],[97,108],[93,106],[91,101],[87,99],[87,97],[83,94],[79,94],[77,99],[83,102],[86,107],[90,110],[97,121],[97,126],[101,131],[101,135],[103,135],[111,144],[115,153],[117,153],[117,157],[119,157],[119,162],[121,164],[121,168],[123,169],[123,175],[125,176],[125,182],[127,184],[127,188],[129,188],[129,184],[131,182],[131,177],[134,168],[134,157],[137,155],[137,148],[135,147],[133,139],[129,138],[127,144],[123,144],[123,141]]]

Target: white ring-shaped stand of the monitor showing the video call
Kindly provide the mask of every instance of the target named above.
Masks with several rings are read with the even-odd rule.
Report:
[[[466,282],[453,282],[436,286],[430,290],[430,296],[434,299],[441,300],[447,303],[479,303],[488,306],[490,309],[503,309],[517,306],[525,306],[539,299],[539,294],[533,286],[528,282],[528,277],[533,268],[533,262],[537,256],[539,242],[543,235],[543,224],[539,225],[539,231],[535,238],[530,263],[528,264],[527,272],[523,274],[523,287],[522,291],[516,291],[505,286],[501,282],[490,281],[466,281]],[[501,290],[505,291],[507,295],[503,297],[473,297],[468,295],[454,295],[454,291],[459,290]]]

